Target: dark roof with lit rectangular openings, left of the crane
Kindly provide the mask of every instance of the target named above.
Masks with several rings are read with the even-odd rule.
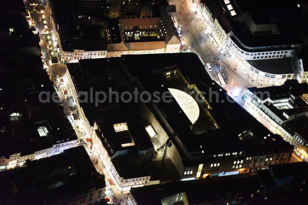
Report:
[[[144,124],[140,113],[136,112],[138,110],[134,106],[136,106],[134,103],[119,103],[117,108],[97,112],[95,121],[99,129],[96,130],[96,133],[106,147],[109,156],[113,156],[121,150],[136,149],[141,151],[153,148],[150,137],[145,130],[146,124]],[[128,130],[115,132],[113,124],[120,123],[126,123]],[[104,139],[107,139],[107,142]],[[122,144],[132,142],[135,145],[122,146]]]

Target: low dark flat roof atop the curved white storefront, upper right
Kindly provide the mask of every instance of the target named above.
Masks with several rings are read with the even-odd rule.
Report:
[[[266,60],[247,60],[247,62],[265,73],[270,74],[292,74],[291,58],[276,58]]]

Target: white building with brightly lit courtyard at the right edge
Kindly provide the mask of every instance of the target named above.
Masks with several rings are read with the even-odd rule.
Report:
[[[278,87],[276,89],[279,90],[280,88]],[[256,90],[247,89],[245,93],[245,110],[272,133],[281,135],[286,142],[294,145],[294,153],[302,160],[308,161],[308,141],[305,136],[306,133],[299,133],[296,131],[297,126],[304,126],[299,123],[302,121],[299,121],[297,126],[294,125],[295,129],[293,126],[290,126],[292,121],[307,119],[308,112],[302,110],[298,113],[289,114],[288,112],[296,110],[294,106],[295,98],[293,99],[290,94],[282,94],[279,95],[279,97],[274,96],[274,99],[271,99],[270,94],[273,93],[268,92],[266,95],[269,96],[265,98],[258,95],[258,91]],[[303,96],[304,97],[301,97],[301,99],[306,102],[305,95]]]

